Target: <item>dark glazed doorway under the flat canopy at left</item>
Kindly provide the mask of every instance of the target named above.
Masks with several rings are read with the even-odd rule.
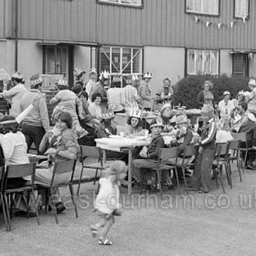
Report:
[[[67,77],[68,48],[46,47],[45,71],[47,74],[61,74],[63,77]]]

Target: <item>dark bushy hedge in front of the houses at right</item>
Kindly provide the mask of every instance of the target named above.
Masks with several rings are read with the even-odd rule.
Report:
[[[186,106],[187,109],[198,108],[197,94],[202,91],[205,80],[213,82],[213,95],[217,103],[223,99],[224,91],[230,91],[231,99],[235,98],[241,90],[250,91],[248,78],[198,74],[188,76],[177,82],[174,86],[174,105],[176,106],[180,103],[181,106]]]

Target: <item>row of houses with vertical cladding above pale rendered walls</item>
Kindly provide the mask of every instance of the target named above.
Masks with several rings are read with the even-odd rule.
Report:
[[[256,76],[254,0],[0,0],[0,68]]]

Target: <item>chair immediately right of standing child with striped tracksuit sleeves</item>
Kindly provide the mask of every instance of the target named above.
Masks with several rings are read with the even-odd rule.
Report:
[[[212,165],[214,165],[217,168],[217,176],[216,176],[216,186],[219,188],[218,185],[218,175],[221,183],[221,187],[223,189],[223,193],[225,193],[225,188],[223,186],[223,173],[222,173],[222,166],[225,166],[226,174],[228,178],[228,182],[230,185],[230,188],[232,188],[232,181],[229,173],[229,160],[227,155],[229,154],[229,143],[219,143],[216,144],[215,149],[215,159],[213,160]]]

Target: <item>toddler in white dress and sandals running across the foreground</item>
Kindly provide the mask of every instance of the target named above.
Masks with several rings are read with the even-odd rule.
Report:
[[[119,204],[119,186],[126,175],[127,167],[123,161],[115,161],[112,166],[104,171],[105,176],[101,177],[101,185],[98,196],[94,202],[94,208],[101,217],[101,221],[90,225],[92,236],[97,236],[99,229],[101,236],[100,245],[112,245],[112,241],[107,239],[107,235],[114,223],[114,216],[121,216]]]

